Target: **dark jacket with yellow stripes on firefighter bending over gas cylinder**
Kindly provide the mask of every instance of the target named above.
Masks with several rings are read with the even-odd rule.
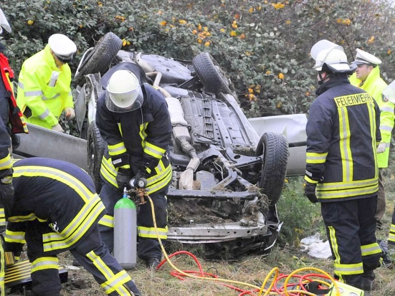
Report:
[[[149,84],[144,84],[142,89],[142,107],[129,112],[109,111],[105,104],[106,93],[98,99],[96,125],[108,144],[100,173],[106,183],[118,188],[119,168],[130,169],[131,177],[145,168],[146,189],[153,193],[166,187],[172,178],[167,155],[172,126],[162,94]]]

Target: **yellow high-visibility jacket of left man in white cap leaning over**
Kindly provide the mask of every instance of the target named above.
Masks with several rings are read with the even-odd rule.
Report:
[[[49,86],[52,72],[59,73],[55,86]],[[71,70],[68,64],[60,69],[49,45],[29,59],[19,74],[17,105],[32,124],[51,128],[59,121],[66,107],[74,108],[70,89]]]

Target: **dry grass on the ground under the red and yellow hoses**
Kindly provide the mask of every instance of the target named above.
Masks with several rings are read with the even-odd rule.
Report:
[[[187,256],[172,258],[173,263],[181,270],[198,270],[193,259]],[[72,257],[66,255],[61,259],[64,264],[71,264]],[[332,274],[330,259],[316,259],[297,250],[275,247],[269,255],[244,256],[237,261],[205,261],[199,259],[203,271],[217,274],[218,277],[261,286],[269,271],[278,267],[280,273],[289,274],[302,267],[315,267]],[[237,296],[239,292],[223,286],[219,282],[186,279],[181,281],[172,275],[173,269],[164,264],[158,271],[148,270],[143,262],[139,262],[134,270],[128,271],[144,296]],[[376,270],[376,285],[373,296],[395,295],[394,270],[380,267]],[[85,289],[75,289],[73,282],[85,279]],[[248,287],[238,286],[242,289]],[[104,296],[104,292],[93,277],[80,270],[69,270],[69,282],[63,285],[62,296]]]

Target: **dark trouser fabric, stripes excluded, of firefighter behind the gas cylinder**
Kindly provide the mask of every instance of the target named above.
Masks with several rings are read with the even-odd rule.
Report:
[[[153,195],[150,194],[150,197],[154,202],[155,218],[159,228],[165,228],[167,225],[166,191],[167,189],[162,190],[159,193],[155,192]],[[104,184],[99,195],[106,206],[107,215],[114,217],[114,206],[118,199],[122,197],[122,192],[115,190],[115,188],[113,189],[110,185]],[[138,210],[137,224],[144,227],[154,227],[150,202],[147,200],[146,204],[139,205]],[[99,230],[102,240],[106,244],[107,248],[112,252],[114,249],[114,228],[99,224]],[[156,238],[151,239],[139,236],[138,256],[141,259],[160,259],[162,251],[158,240]]]

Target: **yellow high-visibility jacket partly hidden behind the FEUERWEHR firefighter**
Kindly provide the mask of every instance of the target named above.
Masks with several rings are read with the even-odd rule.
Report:
[[[379,66],[373,68],[365,82],[356,78],[356,74],[350,76],[350,83],[362,88],[371,95],[380,108],[380,132],[381,142],[386,144],[386,150],[377,154],[377,162],[379,168],[388,167],[388,158],[390,155],[391,133],[394,128],[394,104],[382,95],[383,90],[387,87],[387,83],[380,77]]]

